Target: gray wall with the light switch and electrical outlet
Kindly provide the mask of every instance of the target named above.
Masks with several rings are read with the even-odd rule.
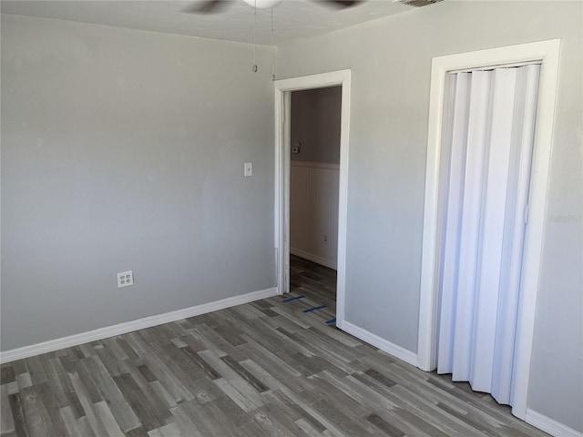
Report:
[[[3,16],[4,351],[275,285],[257,52]]]

